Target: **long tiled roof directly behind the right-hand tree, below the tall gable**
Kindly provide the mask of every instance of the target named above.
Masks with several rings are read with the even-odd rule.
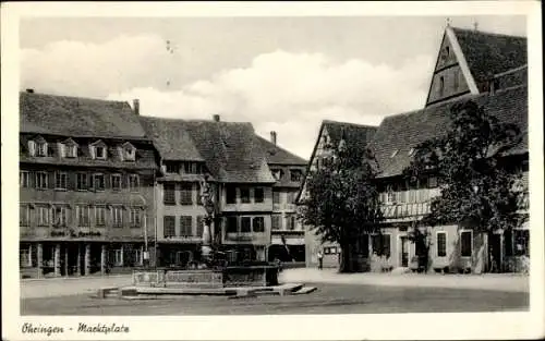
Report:
[[[499,90],[493,95],[471,96],[484,110],[496,115],[506,123],[518,124],[523,133],[522,142],[511,149],[511,153],[528,151],[528,88],[519,86]],[[449,101],[422,110],[395,114],[383,120],[371,146],[375,150],[380,178],[401,174],[410,165],[409,151],[420,143],[439,136],[448,126],[448,110],[453,102]]]

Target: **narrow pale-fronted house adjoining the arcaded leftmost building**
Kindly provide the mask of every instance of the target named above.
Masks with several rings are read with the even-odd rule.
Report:
[[[199,182],[207,173],[185,122],[141,117],[160,155],[156,182],[157,252],[159,266],[186,266],[198,257],[206,211]],[[214,179],[210,179],[214,181]]]

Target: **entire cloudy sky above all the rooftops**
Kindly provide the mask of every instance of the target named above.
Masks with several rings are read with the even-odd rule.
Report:
[[[525,35],[520,16],[451,25]],[[322,120],[423,107],[447,19],[24,19],[21,88],[128,100],[143,115],[252,122],[310,158]]]

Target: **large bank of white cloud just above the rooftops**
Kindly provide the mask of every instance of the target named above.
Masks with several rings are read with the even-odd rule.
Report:
[[[432,56],[398,68],[362,59],[277,50],[247,66],[165,87],[177,65],[158,36],[118,37],[102,45],[60,41],[23,51],[22,83],[57,94],[141,100],[144,115],[250,121],[256,132],[310,158],[322,120],[378,124],[386,114],[424,105]],[[174,72],[171,72],[174,70]],[[31,82],[32,81],[32,82]]]

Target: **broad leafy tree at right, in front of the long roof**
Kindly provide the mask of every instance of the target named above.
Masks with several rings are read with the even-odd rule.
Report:
[[[410,181],[433,174],[441,183],[420,224],[464,223],[487,234],[517,226],[521,192],[514,184],[521,174],[506,162],[505,151],[520,142],[518,126],[473,100],[453,105],[448,119],[446,132],[420,144],[404,170]]]

